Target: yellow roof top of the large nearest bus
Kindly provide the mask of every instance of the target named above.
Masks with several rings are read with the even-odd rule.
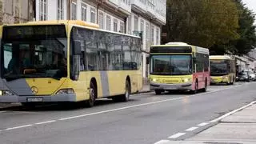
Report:
[[[35,22],[26,22],[26,23],[17,23],[17,24],[7,24],[3,26],[33,26],[33,25],[78,25],[78,26],[86,26],[91,28],[98,29],[99,26],[94,23],[84,22],[79,20],[52,20],[52,21],[35,21]]]

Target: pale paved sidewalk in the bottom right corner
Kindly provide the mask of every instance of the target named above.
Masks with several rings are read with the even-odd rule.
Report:
[[[164,144],[256,144],[256,104],[223,118],[185,141]]]

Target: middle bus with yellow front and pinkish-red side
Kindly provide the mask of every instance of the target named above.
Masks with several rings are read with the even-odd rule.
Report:
[[[150,48],[150,89],[206,91],[210,85],[209,50],[184,42]]]

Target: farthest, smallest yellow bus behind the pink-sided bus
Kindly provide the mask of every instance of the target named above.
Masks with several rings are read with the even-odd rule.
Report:
[[[227,55],[210,56],[210,83],[226,83],[233,85],[235,82],[235,60]]]

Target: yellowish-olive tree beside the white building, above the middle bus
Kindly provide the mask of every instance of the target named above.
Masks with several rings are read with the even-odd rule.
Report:
[[[239,38],[233,0],[167,0],[167,39],[213,47]]]

